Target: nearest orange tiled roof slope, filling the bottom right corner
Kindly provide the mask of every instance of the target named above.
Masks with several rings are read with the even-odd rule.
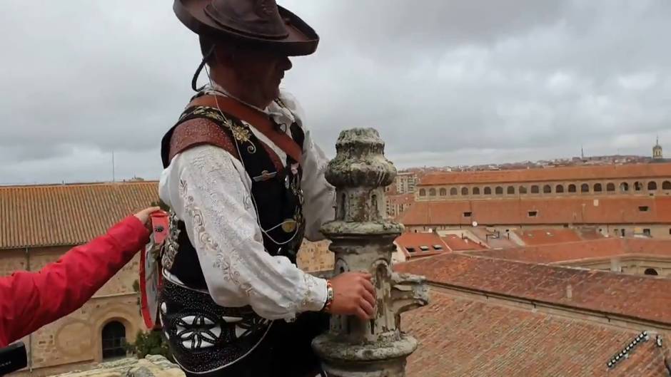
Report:
[[[408,377],[668,376],[665,348],[655,345],[654,334],[609,370],[610,358],[640,331],[456,298],[437,289],[431,289],[430,305],[403,314],[403,329],[420,343],[408,359]],[[667,334],[662,339],[662,344],[671,340]]]

